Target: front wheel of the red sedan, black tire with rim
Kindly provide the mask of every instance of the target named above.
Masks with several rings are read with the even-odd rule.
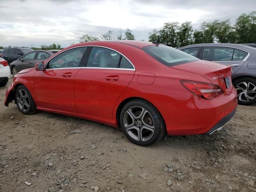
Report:
[[[36,104],[29,90],[24,85],[18,86],[18,88],[15,91],[14,99],[15,99],[15,103],[18,106],[18,109],[23,114],[31,115],[36,113]],[[22,105],[22,102],[25,104]]]

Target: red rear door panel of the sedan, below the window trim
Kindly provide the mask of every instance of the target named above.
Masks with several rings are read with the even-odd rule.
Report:
[[[113,118],[113,106],[132,80],[134,72],[132,70],[82,68],[75,79],[78,113]],[[116,80],[107,78],[111,76],[114,76]]]

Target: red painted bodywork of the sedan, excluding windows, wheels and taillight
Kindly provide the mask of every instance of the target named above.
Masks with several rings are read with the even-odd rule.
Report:
[[[168,67],[141,49],[148,45],[152,43],[87,42],[65,48],[56,55],[78,46],[108,47],[126,56],[135,70],[30,69],[15,76],[14,83],[6,91],[5,104],[10,102],[7,98],[14,87],[24,84],[30,90],[38,110],[118,126],[118,106],[128,98],[142,98],[158,109],[171,135],[206,133],[236,109],[236,90],[233,86],[226,88],[223,78],[213,79],[220,74],[230,76],[230,67],[207,61]],[[71,76],[63,77],[64,73]],[[189,92],[180,84],[180,80],[216,84],[224,93],[212,100],[205,100]]]

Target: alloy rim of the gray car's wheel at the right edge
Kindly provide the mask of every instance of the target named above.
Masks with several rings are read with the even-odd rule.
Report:
[[[248,102],[256,97],[256,85],[251,82],[241,82],[236,85],[237,98],[240,101]]]

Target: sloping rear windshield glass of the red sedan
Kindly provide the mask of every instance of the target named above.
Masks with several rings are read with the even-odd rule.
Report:
[[[150,45],[142,48],[142,50],[168,67],[199,60],[190,54],[166,45]]]

